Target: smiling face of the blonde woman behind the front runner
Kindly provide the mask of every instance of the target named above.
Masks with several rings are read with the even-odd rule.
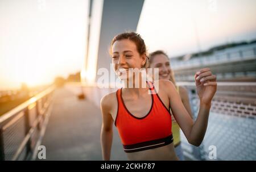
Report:
[[[164,54],[155,55],[150,64],[150,68],[159,69],[159,79],[169,80],[171,78],[170,61]]]

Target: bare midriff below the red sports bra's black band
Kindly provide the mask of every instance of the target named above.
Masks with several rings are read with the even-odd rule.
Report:
[[[179,160],[175,154],[174,143],[148,150],[142,150],[139,152],[126,153],[129,160],[134,161],[176,161]]]

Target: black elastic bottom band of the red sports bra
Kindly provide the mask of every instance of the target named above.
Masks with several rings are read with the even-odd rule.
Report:
[[[174,141],[174,138],[172,137],[172,135],[170,135],[162,139],[144,141],[144,142],[140,142],[138,144],[132,144],[132,145],[123,145],[123,149],[127,153],[138,152],[141,150],[153,149],[153,148],[158,148],[160,146],[168,145],[168,144],[171,144],[173,141]]]

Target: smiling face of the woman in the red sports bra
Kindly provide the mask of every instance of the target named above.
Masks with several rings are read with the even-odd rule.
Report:
[[[115,73],[121,79],[127,78],[129,68],[141,69],[146,61],[146,55],[139,54],[136,44],[129,39],[115,41],[112,45],[112,52],[112,64]]]

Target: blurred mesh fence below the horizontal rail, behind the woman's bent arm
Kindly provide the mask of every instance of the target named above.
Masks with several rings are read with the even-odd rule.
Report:
[[[199,99],[192,82],[180,82],[187,88],[193,117],[199,111]],[[210,146],[217,149],[216,160],[256,160],[256,83],[218,82],[212,101],[207,132],[199,147],[190,145],[181,132],[184,155],[190,160],[212,160]]]

